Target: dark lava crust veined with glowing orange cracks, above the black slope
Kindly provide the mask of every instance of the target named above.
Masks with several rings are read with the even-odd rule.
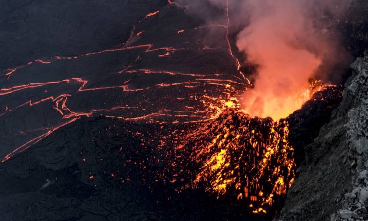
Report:
[[[226,29],[167,0],[16,0],[0,10],[1,159],[79,116],[200,120],[204,95],[247,87]]]

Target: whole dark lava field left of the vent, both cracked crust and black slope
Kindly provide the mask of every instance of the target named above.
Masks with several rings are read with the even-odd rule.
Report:
[[[248,86],[226,28],[170,2],[0,3],[0,159],[20,147],[0,163],[1,221],[249,218],[162,181],[168,125]]]

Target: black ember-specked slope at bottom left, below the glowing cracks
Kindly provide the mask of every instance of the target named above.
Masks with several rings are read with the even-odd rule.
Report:
[[[1,164],[0,220],[252,220],[234,201],[162,182],[170,150],[157,146],[173,129],[99,117],[58,130]]]

